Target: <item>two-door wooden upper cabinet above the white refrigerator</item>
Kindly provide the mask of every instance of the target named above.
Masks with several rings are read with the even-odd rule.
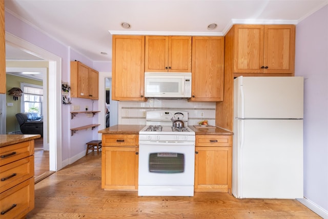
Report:
[[[294,73],[294,25],[234,28],[234,73]]]

